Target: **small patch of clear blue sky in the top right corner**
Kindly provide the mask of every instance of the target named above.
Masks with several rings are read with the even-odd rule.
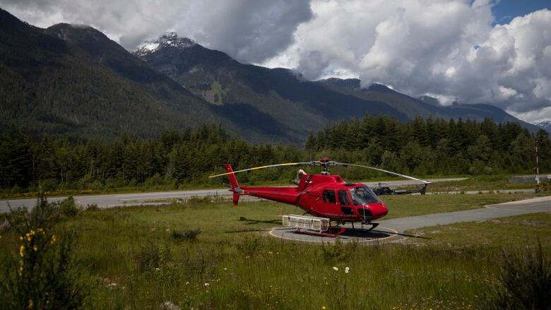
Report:
[[[509,23],[516,16],[547,8],[551,10],[551,0],[502,0],[493,8],[495,23]]]

